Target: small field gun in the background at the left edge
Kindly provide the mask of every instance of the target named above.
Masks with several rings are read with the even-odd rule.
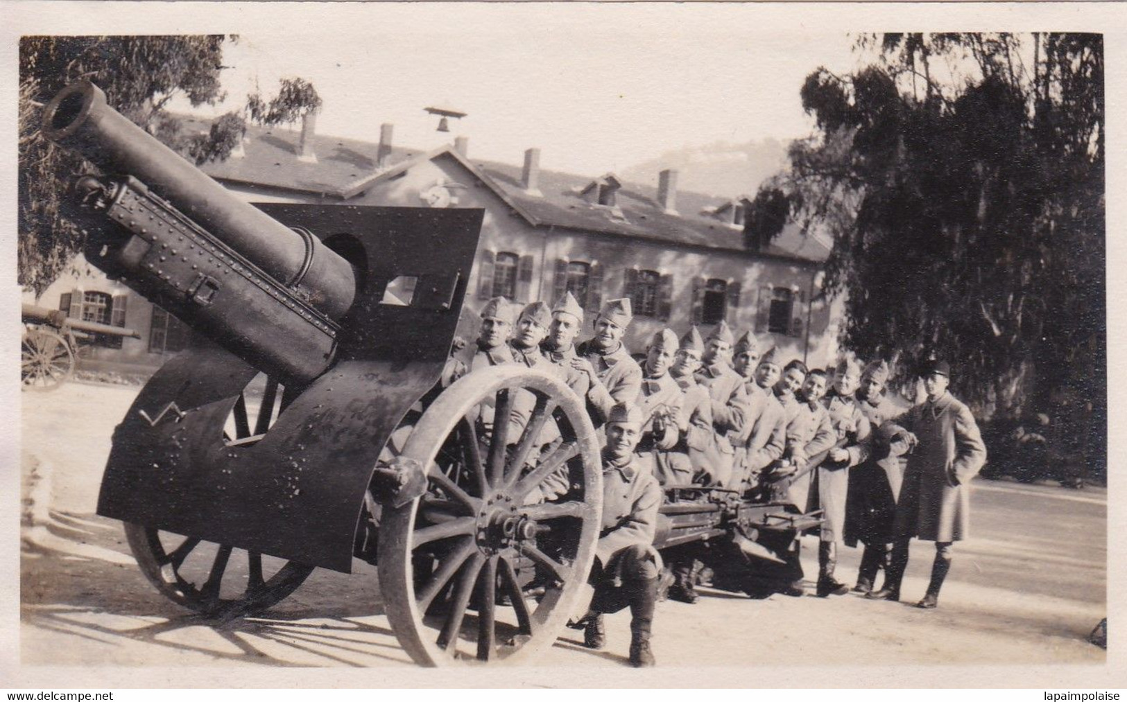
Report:
[[[81,319],[62,310],[23,303],[24,339],[20,345],[20,380],[29,390],[54,390],[74,373],[79,339],[95,335],[141,338],[133,329]]]

